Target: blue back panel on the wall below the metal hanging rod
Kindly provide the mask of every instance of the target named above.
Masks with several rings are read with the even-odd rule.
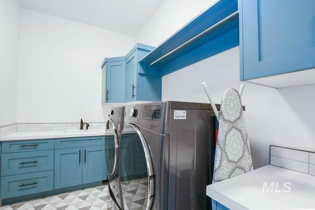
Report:
[[[236,24],[236,22],[238,23],[238,21],[235,21],[234,24]],[[238,24],[235,26],[237,27],[228,31],[224,35],[221,35],[220,37],[162,66],[162,76],[180,70],[223,51],[237,47],[239,45],[239,29]]]

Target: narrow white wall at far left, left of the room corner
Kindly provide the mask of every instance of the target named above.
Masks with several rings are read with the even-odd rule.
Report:
[[[19,35],[18,0],[0,0],[0,126],[16,123]]]

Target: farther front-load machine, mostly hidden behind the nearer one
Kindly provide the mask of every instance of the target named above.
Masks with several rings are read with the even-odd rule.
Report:
[[[105,159],[108,174],[109,195],[116,209],[124,209],[118,171],[119,140],[124,126],[125,106],[110,109],[105,130]]]

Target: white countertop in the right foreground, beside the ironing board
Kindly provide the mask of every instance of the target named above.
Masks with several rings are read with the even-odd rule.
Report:
[[[267,165],[210,184],[206,194],[232,210],[315,209],[315,176]]]

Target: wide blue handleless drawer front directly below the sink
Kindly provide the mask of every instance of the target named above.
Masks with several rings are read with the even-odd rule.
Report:
[[[105,145],[105,136],[56,138],[55,149],[91,147]]]

